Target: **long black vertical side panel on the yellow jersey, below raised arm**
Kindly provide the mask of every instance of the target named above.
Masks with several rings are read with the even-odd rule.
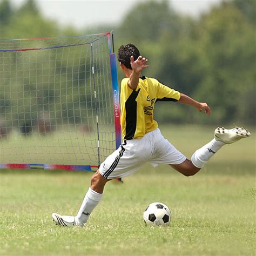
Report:
[[[137,102],[136,98],[138,97],[139,91],[132,91],[131,95],[125,102],[125,111],[126,111],[126,127],[125,127],[125,137],[124,139],[132,139],[135,134],[137,126]]]

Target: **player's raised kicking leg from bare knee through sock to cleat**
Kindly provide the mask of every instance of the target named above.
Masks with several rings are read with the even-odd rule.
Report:
[[[185,176],[192,176],[210,160],[214,154],[226,144],[237,142],[242,138],[250,137],[251,133],[243,127],[225,129],[218,127],[214,131],[214,139],[193,153],[191,160],[186,159],[178,165],[171,165],[175,170]]]

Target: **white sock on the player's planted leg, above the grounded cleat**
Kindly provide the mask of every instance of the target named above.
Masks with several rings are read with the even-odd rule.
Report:
[[[75,221],[77,224],[86,223],[87,219],[89,219],[92,210],[97,206],[100,199],[102,199],[102,195],[103,194],[99,194],[89,187],[89,190],[87,191],[84,197],[83,203],[80,206],[77,216],[75,217]]]

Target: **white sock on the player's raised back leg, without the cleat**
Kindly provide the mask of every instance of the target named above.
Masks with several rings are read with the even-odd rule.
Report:
[[[204,167],[207,161],[224,145],[224,142],[220,142],[214,138],[211,142],[193,153],[191,157],[192,164],[198,168]]]

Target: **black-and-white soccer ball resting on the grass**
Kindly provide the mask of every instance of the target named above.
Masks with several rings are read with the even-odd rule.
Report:
[[[152,203],[146,207],[143,219],[147,225],[170,225],[171,211],[163,203]]]

